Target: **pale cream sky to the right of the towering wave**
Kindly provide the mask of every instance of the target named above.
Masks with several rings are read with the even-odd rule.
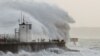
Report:
[[[49,0],[76,20],[74,27],[100,27],[100,0]]]

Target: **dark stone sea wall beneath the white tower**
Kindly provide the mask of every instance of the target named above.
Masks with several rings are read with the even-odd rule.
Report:
[[[7,52],[18,52],[19,50],[26,50],[26,51],[40,51],[47,48],[65,47],[64,42],[32,42],[32,43],[0,43],[0,51]]]

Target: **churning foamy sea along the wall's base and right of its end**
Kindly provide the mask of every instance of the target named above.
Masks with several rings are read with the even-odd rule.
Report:
[[[79,52],[65,51],[60,48],[49,48],[39,52],[27,52],[24,50],[18,53],[0,51],[0,56],[100,56],[100,41],[81,39],[77,46],[69,47],[72,49],[80,50]]]

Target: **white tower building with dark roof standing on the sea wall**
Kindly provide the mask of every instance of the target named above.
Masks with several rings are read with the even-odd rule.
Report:
[[[32,24],[23,21],[19,24],[19,40],[20,42],[32,42]]]

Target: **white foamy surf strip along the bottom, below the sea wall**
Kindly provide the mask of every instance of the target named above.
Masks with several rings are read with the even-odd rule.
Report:
[[[54,50],[58,51],[59,53],[55,52]],[[20,51],[17,54],[11,52],[7,53],[0,52],[0,56],[100,56],[100,52],[85,48],[80,49],[80,52],[69,52],[59,48],[54,48],[49,50],[42,50],[40,52]]]

